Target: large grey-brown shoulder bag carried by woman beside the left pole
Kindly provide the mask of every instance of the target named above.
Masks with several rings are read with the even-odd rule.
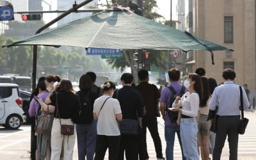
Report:
[[[38,101],[36,100],[36,102]],[[41,115],[36,117],[35,131],[42,134],[51,134],[53,120],[54,117],[49,114],[48,106],[46,113],[42,113]]]

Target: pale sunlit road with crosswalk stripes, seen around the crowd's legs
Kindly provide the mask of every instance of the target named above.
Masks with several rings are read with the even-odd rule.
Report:
[[[248,128],[244,135],[239,136],[238,159],[239,160],[256,160],[256,112],[246,111],[244,113],[246,118],[250,119]],[[164,140],[164,123],[161,118],[158,118],[159,134],[163,145],[163,154],[165,153],[166,143]],[[177,140],[177,138],[175,138]],[[147,132],[148,154],[151,160],[156,159],[156,153],[152,138]],[[77,159],[77,145],[74,147],[74,159]],[[30,126],[22,125],[19,130],[12,131],[0,127],[0,159],[29,159],[30,149]],[[165,154],[164,154],[165,155]],[[108,159],[106,153],[105,159]],[[181,152],[179,143],[175,141],[174,159],[181,159]],[[225,147],[221,155],[221,160],[228,159],[228,143],[226,141]]]

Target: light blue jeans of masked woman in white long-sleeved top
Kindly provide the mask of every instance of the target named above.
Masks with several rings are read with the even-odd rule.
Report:
[[[198,127],[196,118],[181,118],[180,120],[180,138],[184,156],[187,160],[199,160],[197,150]]]

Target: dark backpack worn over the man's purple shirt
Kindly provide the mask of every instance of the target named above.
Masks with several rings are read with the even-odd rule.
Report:
[[[173,104],[174,100],[176,99],[176,97],[178,97],[178,96],[182,97],[184,95],[186,87],[184,85],[182,85],[180,93],[177,93],[174,90],[173,86],[168,86],[168,88],[172,92],[172,97],[170,99],[170,106],[169,106],[169,108],[172,108],[172,104]],[[179,112],[177,112],[177,111],[170,111],[167,107],[166,107],[166,112],[168,113],[168,116],[169,116],[171,122],[177,122]]]

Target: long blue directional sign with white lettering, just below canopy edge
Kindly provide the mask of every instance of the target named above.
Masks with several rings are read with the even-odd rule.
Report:
[[[104,49],[104,48],[88,48],[87,55],[118,55],[121,54],[120,49]]]

